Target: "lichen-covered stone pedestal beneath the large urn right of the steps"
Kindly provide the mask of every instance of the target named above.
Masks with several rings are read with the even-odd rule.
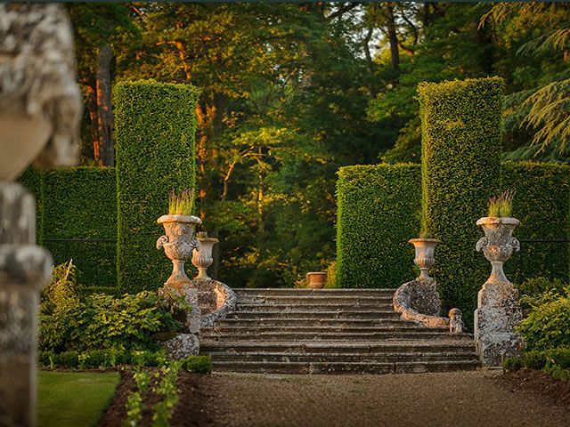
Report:
[[[512,284],[485,283],[475,310],[476,349],[483,365],[500,367],[503,357],[517,356],[521,338],[515,326],[522,318],[518,291]]]

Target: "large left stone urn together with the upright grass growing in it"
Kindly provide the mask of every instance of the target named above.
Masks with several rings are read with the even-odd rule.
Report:
[[[180,195],[172,190],[168,194],[168,214],[162,215],[157,220],[165,230],[165,234],[157,240],[157,249],[164,249],[164,253],[173,263],[172,274],[165,286],[173,288],[191,286],[191,280],[184,271],[184,263],[192,256],[194,249],[199,250],[199,240],[194,231],[202,222],[191,214],[193,207],[193,189],[185,189]]]

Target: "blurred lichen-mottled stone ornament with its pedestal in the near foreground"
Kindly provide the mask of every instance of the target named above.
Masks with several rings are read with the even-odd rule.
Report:
[[[0,425],[36,423],[37,305],[52,258],[34,198],[12,182],[34,162],[73,165],[81,97],[57,4],[0,4]]]

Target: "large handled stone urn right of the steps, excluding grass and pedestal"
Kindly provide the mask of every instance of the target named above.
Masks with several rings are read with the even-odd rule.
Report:
[[[520,249],[517,238],[513,238],[513,230],[519,223],[517,218],[497,216],[488,216],[476,222],[485,233],[485,237],[477,242],[476,251],[483,250],[485,258],[493,266],[491,276],[486,283],[510,283],[502,270],[502,264]]]

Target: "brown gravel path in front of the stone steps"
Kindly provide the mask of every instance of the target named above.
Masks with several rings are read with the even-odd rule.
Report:
[[[203,377],[200,411],[226,427],[570,426],[570,407],[500,375],[216,374]]]

